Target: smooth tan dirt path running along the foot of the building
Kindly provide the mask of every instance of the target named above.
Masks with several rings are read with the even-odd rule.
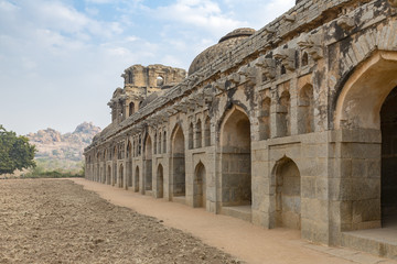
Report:
[[[313,245],[300,240],[298,231],[265,230],[246,221],[213,215],[203,209],[193,209],[85,179],[74,182],[96,191],[115,205],[161,219],[165,226],[189,232],[206,244],[222,249],[248,263],[397,263],[352,250]]]

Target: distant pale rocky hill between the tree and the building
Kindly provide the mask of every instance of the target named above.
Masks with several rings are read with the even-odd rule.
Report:
[[[72,133],[61,134],[53,129],[39,130],[26,136],[37,148],[35,160],[45,169],[73,170],[81,168],[84,147],[88,146],[100,128],[84,122]]]

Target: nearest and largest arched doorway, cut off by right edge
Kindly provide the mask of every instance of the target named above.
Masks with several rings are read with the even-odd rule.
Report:
[[[372,229],[394,222],[396,166],[393,139],[396,112],[397,53],[374,52],[341,84],[335,98],[334,128],[346,131],[339,142],[343,154],[340,204],[342,231]],[[342,134],[342,133],[341,133]],[[351,166],[346,166],[351,164]],[[337,186],[335,186],[337,187]],[[348,223],[348,224],[347,224]]]

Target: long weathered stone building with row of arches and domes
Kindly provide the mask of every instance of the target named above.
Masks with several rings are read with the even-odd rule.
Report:
[[[396,257],[396,14],[395,0],[300,0],[187,75],[126,69],[86,178]]]

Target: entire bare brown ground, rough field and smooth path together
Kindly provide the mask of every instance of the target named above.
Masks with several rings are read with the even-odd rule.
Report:
[[[266,230],[108,185],[73,182],[0,180],[1,264],[238,263],[237,258],[253,264],[397,263],[311,244],[299,231]]]

